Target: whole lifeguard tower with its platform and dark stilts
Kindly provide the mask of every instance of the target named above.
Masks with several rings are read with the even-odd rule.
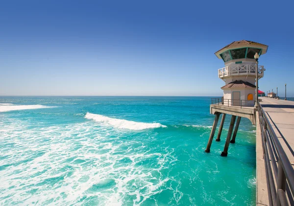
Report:
[[[210,113],[216,116],[205,152],[210,152],[213,136],[221,114],[221,125],[216,141],[221,140],[225,115],[232,115],[224,150],[221,153],[222,156],[227,156],[229,143],[235,143],[241,117],[248,118],[253,125],[256,125],[256,108],[254,108],[256,99],[255,83],[258,82],[256,77],[257,79],[262,78],[265,71],[264,66],[258,65],[258,58],[267,51],[267,45],[241,40],[232,42],[218,52],[215,52],[216,56],[224,61],[225,67],[218,70],[218,75],[225,82],[225,85],[221,87],[223,97],[212,99],[210,105]],[[231,139],[236,117],[238,119],[233,138]]]

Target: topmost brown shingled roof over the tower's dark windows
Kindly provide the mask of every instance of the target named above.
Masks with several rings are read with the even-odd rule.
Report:
[[[228,44],[227,46],[221,48],[219,51],[215,52],[217,57],[221,59],[220,54],[222,52],[225,52],[227,50],[232,50],[232,49],[238,49],[238,48],[245,48],[245,47],[252,47],[252,48],[259,48],[262,49],[261,54],[265,54],[268,51],[268,45],[261,44],[258,42],[253,42],[253,41],[247,41],[247,40],[240,40],[240,41],[234,41],[231,44]]]

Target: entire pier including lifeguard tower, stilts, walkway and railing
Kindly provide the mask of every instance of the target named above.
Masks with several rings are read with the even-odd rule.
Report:
[[[273,99],[273,92],[272,98],[258,98],[265,95],[258,90],[258,79],[266,71],[258,59],[267,51],[267,45],[241,40],[215,53],[225,64],[218,70],[225,85],[221,87],[223,97],[213,98],[210,104],[215,119],[205,152],[210,153],[220,117],[216,141],[221,141],[226,114],[231,115],[221,156],[227,156],[230,143],[238,141],[241,118],[249,119],[256,125],[256,205],[294,206],[294,102],[286,97]]]

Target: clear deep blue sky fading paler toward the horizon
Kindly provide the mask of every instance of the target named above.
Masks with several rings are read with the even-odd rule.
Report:
[[[214,52],[269,45],[259,87],[294,96],[294,1],[6,0],[0,95],[221,96]]]

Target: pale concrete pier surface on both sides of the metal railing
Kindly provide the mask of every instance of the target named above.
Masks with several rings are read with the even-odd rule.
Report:
[[[294,166],[294,102],[259,98],[283,150]],[[259,120],[256,126],[256,205],[270,206]],[[271,160],[271,159],[270,159]],[[275,161],[275,159],[273,160]]]

